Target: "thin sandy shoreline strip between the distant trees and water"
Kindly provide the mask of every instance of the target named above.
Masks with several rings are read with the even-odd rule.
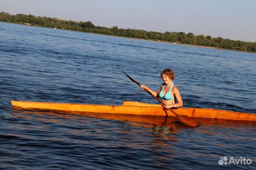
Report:
[[[14,23],[14,24],[21,24],[21,25],[28,25],[28,26],[43,27],[41,25],[31,25],[30,23],[17,23],[17,22],[6,22],[6,23]],[[43,27],[43,28],[49,28],[49,27]],[[57,28],[50,28],[50,29],[57,29]],[[58,29],[60,29],[60,28],[58,28]],[[84,31],[78,31],[78,30],[72,30],[72,29],[63,29],[63,28],[61,28],[61,29],[62,30],[67,30],[67,31],[76,31],[76,32],[90,33],[90,32],[84,32]],[[97,34],[97,33],[91,33],[91,34]],[[107,34],[98,34],[98,35],[107,35]],[[136,40],[144,40],[144,41],[158,42],[158,43],[186,45],[186,46],[193,46],[193,47],[201,47],[201,48],[209,48],[209,49],[219,49],[219,50],[229,50],[229,51],[237,51],[237,52],[256,54],[256,52],[242,51],[242,50],[232,50],[232,49],[225,49],[225,48],[212,47],[212,46],[203,46],[203,45],[193,45],[193,44],[185,44],[185,43],[166,42],[166,41],[161,41],[161,40],[149,40],[149,39],[140,39],[140,38],[132,38],[132,37],[121,37],[121,36],[117,36],[117,35],[107,35],[107,36],[120,37],[120,38],[129,38],[129,39],[136,39]]]

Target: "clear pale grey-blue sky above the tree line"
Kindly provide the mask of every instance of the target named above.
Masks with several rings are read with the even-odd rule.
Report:
[[[0,0],[0,11],[256,42],[256,0]]]

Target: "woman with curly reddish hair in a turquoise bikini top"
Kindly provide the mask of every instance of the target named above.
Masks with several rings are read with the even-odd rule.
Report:
[[[182,98],[180,95],[180,91],[178,90],[177,86],[174,85],[174,72],[170,68],[166,68],[161,72],[161,78],[164,83],[161,84],[160,88],[157,92],[151,90],[150,88],[146,87],[145,85],[140,86],[142,89],[145,88],[156,97],[161,97],[162,102],[166,104],[165,108],[180,108],[183,106]],[[144,90],[144,89],[143,89]],[[175,97],[178,103],[175,103]]]

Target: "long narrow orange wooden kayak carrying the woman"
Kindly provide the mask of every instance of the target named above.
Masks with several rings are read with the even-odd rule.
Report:
[[[62,110],[72,112],[108,113],[108,114],[132,114],[153,116],[175,116],[170,110],[160,104],[148,104],[140,102],[124,101],[122,105],[97,105],[97,104],[71,104],[71,103],[46,103],[11,101],[13,106],[26,109]],[[189,117],[225,119],[236,121],[256,121],[256,114],[240,113],[218,109],[202,108],[178,108],[173,109],[179,115]],[[77,114],[77,113],[74,113]]]

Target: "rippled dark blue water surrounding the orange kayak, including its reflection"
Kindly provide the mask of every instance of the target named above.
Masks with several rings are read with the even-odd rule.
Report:
[[[26,110],[11,100],[157,103],[171,67],[185,107],[256,114],[256,55],[0,22],[0,169],[256,169],[256,124]],[[221,157],[250,165],[219,165]]]

